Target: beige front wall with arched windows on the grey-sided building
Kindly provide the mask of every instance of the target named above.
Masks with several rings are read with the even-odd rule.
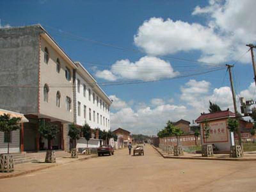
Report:
[[[48,64],[44,62],[44,48],[47,47],[50,59]],[[60,72],[56,70],[57,59],[60,60]],[[65,69],[68,67],[71,79],[68,81],[65,76]],[[58,54],[53,47],[41,37],[40,49],[40,107],[39,113],[57,118],[67,122],[73,122],[73,69]],[[44,101],[44,84],[49,85],[48,102]],[[60,92],[60,107],[56,105],[56,94]],[[71,98],[71,110],[67,111],[66,97]]]

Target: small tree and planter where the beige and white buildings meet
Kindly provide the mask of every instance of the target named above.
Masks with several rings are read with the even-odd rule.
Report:
[[[71,149],[71,158],[78,158],[78,153],[76,149],[76,140],[80,137],[80,130],[76,127],[74,123],[68,126],[68,136],[72,139],[73,148]]]

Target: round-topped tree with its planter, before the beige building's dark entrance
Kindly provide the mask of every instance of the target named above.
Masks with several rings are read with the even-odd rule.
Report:
[[[46,155],[45,155],[45,163],[55,163],[56,155],[55,155],[55,151],[52,150],[52,140],[56,138],[59,132],[57,129],[57,125],[52,124],[50,122],[46,122],[45,120],[41,120],[39,122],[38,132],[45,139],[47,139],[47,143],[48,143],[48,150],[46,151]]]

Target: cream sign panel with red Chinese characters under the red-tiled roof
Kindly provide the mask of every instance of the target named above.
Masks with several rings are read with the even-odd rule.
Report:
[[[226,120],[210,122],[209,126],[210,126],[210,136],[207,138],[207,143],[228,141]],[[205,142],[205,138],[204,138],[204,142]]]

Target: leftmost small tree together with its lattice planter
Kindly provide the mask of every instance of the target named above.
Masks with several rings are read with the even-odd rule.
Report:
[[[4,114],[0,116],[0,131],[5,132],[8,137],[6,141],[8,142],[7,154],[0,154],[0,171],[1,172],[11,172],[14,170],[13,156],[9,154],[11,133],[17,129],[20,129],[20,117],[10,117],[10,114]]]

